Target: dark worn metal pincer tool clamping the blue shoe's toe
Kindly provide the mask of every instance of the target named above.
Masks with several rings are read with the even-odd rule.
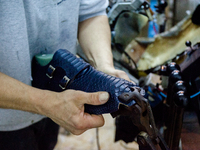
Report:
[[[136,104],[130,107],[120,105],[119,111],[112,113],[113,117],[117,115],[130,116],[133,124],[138,127],[140,133],[137,136],[137,142],[140,150],[169,150],[164,139],[158,132],[151,107],[140,93],[141,89],[134,87],[133,92],[123,93],[118,98],[125,102],[135,100]]]

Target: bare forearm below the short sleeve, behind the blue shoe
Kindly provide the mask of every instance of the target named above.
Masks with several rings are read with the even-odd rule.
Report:
[[[97,16],[79,23],[79,43],[89,62],[97,69],[113,67],[111,35],[107,16]]]

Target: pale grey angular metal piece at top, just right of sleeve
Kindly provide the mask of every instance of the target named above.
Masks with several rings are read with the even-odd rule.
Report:
[[[123,11],[138,11],[149,9],[149,3],[145,0],[116,0],[108,12],[109,23],[112,25],[115,19]]]

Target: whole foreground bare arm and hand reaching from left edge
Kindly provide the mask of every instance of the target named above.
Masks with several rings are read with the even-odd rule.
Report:
[[[100,105],[108,100],[106,92],[85,93],[66,90],[52,92],[26,85],[0,72],[0,108],[17,109],[45,115],[73,134],[104,124],[102,115],[84,112],[84,104]]]

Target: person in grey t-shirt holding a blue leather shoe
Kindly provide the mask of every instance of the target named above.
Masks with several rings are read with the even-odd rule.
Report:
[[[53,149],[57,124],[75,135],[103,126],[103,116],[85,113],[84,104],[105,103],[107,92],[31,87],[31,60],[58,49],[75,54],[78,39],[97,70],[129,80],[113,65],[107,5],[107,0],[0,0],[1,150]]]

